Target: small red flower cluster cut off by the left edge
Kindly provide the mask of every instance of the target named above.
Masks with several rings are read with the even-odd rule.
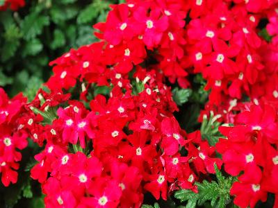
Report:
[[[0,173],[1,181],[6,187],[10,182],[17,182],[16,170],[19,168],[18,162],[22,159],[18,150],[27,146],[28,134],[20,122],[22,115],[26,114],[25,103],[26,98],[22,94],[10,100],[0,88]]]

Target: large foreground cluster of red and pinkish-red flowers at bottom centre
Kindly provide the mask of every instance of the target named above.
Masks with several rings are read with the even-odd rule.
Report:
[[[172,114],[177,105],[170,88],[157,81],[155,71],[137,69],[135,85],[142,85],[137,93],[128,79],[113,72],[115,86],[107,100],[95,96],[90,110],[68,101],[58,108],[57,119],[38,130],[47,145],[35,156],[39,164],[31,177],[42,183],[47,207],[140,207],[145,191],[164,200],[179,187],[197,191],[195,180],[222,164],[199,131],[187,135],[181,130]],[[44,96],[40,92],[40,100],[51,103]],[[45,111],[45,103],[33,105],[44,112],[49,106]]]

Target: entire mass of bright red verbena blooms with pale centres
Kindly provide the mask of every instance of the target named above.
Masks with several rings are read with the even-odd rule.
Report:
[[[94,26],[100,42],[50,63],[49,91],[26,103],[0,90],[3,184],[17,181],[30,137],[43,147],[31,177],[47,207],[140,207],[147,192],[197,193],[195,182],[222,164],[238,177],[234,204],[254,207],[272,193],[278,207],[277,8],[276,0],[112,5]],[[197,73],[209,90],[199,121],[214,114],[225,124],[216,146],[174,117],[166,83],[190,88]]]

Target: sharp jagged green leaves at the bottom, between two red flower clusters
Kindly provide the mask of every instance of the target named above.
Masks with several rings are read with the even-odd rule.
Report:
[[[226,207],[231,202],[229,191],[236,178],[224,177],[216,165],[215,171],[217,182],[208,182],[207,180],[203,180],[202,183],[195,182],[198,187],[198,193],[182,189],[174,193],[174,197],[181,200],[181,202],[187,201],[186,208],[202,206],[207,201],[210,201],[211,207]]]

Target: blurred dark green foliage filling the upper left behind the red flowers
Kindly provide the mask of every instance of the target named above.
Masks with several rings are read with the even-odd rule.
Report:
[[[51,75],[49,61],[97,41],[92,25],[105,20],[111,3],[118,1],[26,1],[17,12],[0,12],[0,87],[10,96],[23,90],[31,98],[28,91]]]

